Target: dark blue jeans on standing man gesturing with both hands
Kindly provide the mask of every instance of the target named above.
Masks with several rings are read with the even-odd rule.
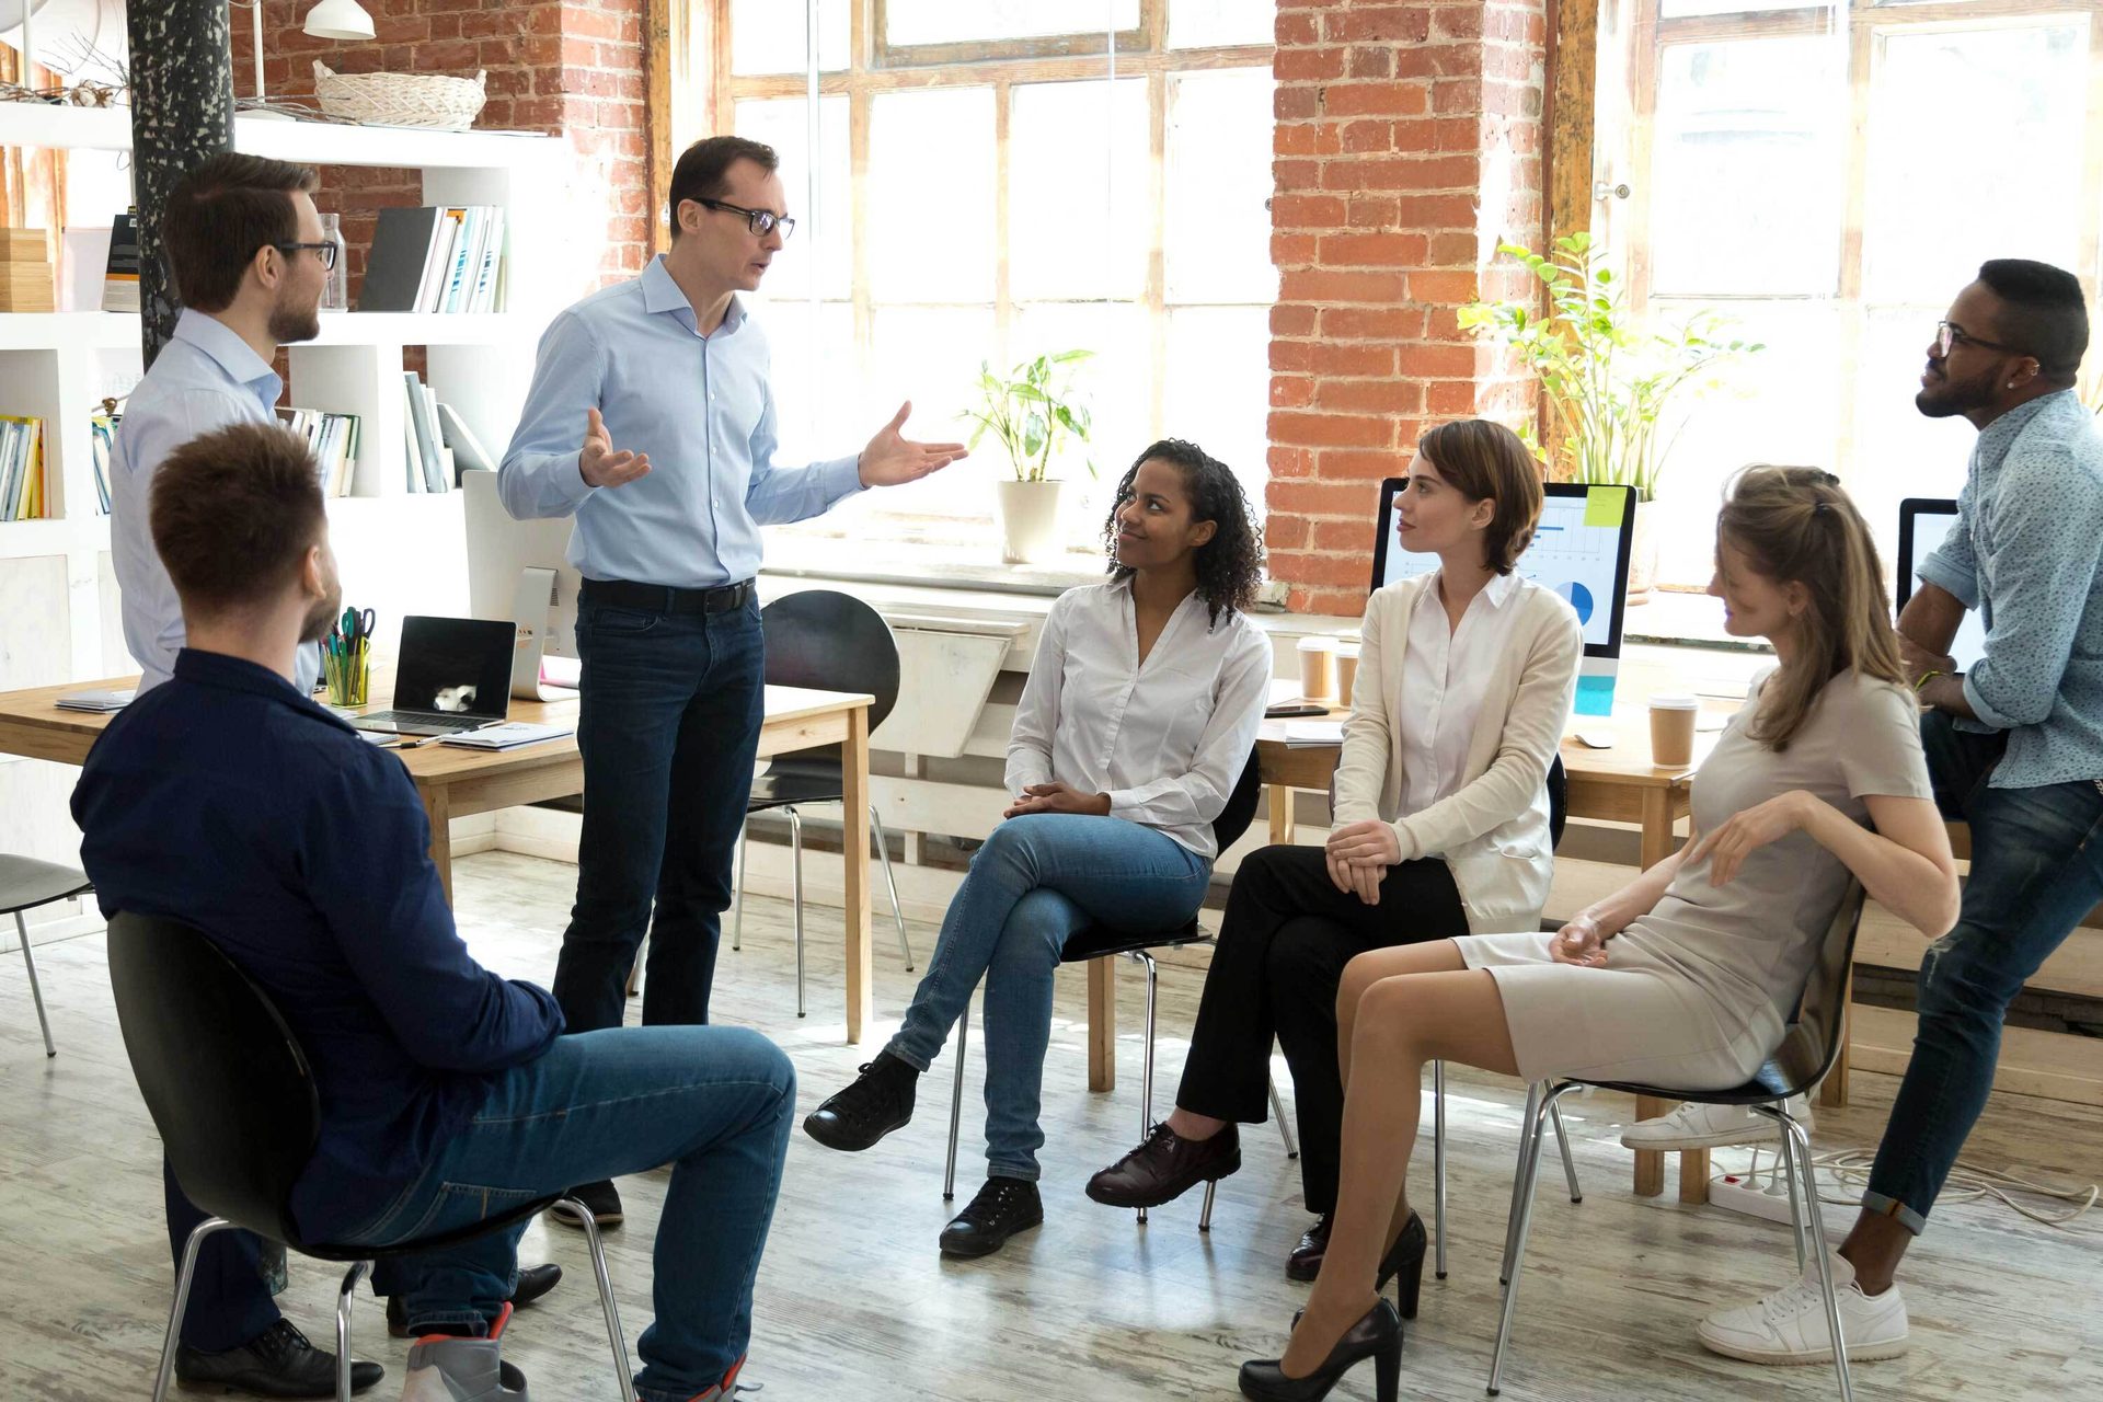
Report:
[[[618,1028],[650,933],[644,1024],[709,1022],[765,687],[759,605],[576,612],[585,830],[555,1001],[572,1032]],[[652,919],[652,902],[656,916]]]

